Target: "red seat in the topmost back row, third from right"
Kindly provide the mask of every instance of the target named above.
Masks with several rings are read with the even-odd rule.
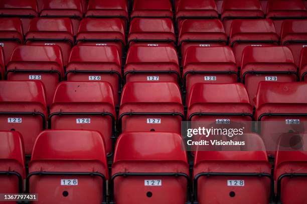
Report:
[[[179,0],[176,9],[176,25],[181,29],[187,18],[218,18],[219,13],[214,0]]]

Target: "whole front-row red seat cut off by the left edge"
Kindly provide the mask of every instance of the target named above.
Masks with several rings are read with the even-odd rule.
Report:
[[[0,131],[0,193],[23,193],[25,151],[18,131]],[[13,202],[4,202],[13,203]]]

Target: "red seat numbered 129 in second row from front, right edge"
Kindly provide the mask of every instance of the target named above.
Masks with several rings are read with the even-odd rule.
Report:
[[[268,146],[280,135],[307,128],[307,84],[304,82],[261,81],[256,95],[255,119],[258,132]],[[275,147],[274,147],[275,148]],[[274,156],[275,152],[268,152]]]

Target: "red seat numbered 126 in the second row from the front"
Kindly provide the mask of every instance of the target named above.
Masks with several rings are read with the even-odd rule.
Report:
[[[55,91],[48,125],[50,129],[97,130],[104,138],[106,152],[111,153],[115,119],[108,82],[63,81]]]

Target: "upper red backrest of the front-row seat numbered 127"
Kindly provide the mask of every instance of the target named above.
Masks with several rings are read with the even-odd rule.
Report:
[[[182,137],[171,132],[125,132],[116,142],[112,174],[129,172],[187,172],[188,160]],[[143,163],[166,163],[164,168],[145,169]],[[129,165],[129,163],[133,165]],[[122,166],[121,166],[122,165]],[[121,167],[120,167],[121,166]],[[123,168],[124,166],[124,168]]]

